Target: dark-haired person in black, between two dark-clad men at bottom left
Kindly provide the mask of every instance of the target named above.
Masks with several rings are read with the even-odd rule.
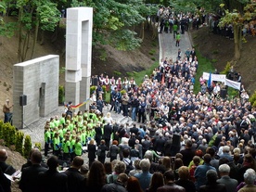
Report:
[[[49,170],[39,173],[40,192],[68,192],[68,176],[58,173],[58,158],[52,156],[47,160]]]

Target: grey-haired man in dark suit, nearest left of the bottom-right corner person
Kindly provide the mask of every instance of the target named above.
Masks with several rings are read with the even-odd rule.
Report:
[[[222,164],[219,167],[219,173],[221,178],[217,180],[217,183],[224,184],[226,187],[226,192],[236,191],[238,182],[236,179],[232,179],[229,177],[230,167],[227,164]]]

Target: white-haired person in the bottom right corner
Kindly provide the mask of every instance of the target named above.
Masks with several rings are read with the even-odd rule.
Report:
[[[238,192],[256,192],[256,186],[254,185],[256,173],[253,169],[248,169],[246,173],[244,173],[244,180],[246,186],[240,188]]]

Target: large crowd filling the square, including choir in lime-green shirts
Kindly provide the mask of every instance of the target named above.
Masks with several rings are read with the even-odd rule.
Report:
[[[178,27],[181,31],[181,26]],[[45,158],[32,149],[19,188],[27,191],[243,192],[256,191],[256,110],[248,97],[220,96],[220,83],[194,93],[194,48],[162,58],[143,83],[101,74],[90,109],[45,123]],[[110,91],[104,114],[102,86]],[[111,110],[132,124],[111,118]],[[53,155],[48,154],[53,149]],[[86,153],[88,162],[83,160]],[[0,150],[0,176],[15,170]],[[61,165],[61,166],[59,166]],[[57,169],[61,172],[58,173]],[[0,191],[10,191],[0,179]]]

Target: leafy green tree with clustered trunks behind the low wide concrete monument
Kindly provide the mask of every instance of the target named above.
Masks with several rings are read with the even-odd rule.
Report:
[[[53,32],[58,25],[58,5],[51,0],[3,0],[2,5],[6,5],[6,16],[17,17],[17,22],[5,22],[1,26],[0,34],[10,37],[17,32],[19,62],[31,59],[39,30],[44,36],[45,31]]]

